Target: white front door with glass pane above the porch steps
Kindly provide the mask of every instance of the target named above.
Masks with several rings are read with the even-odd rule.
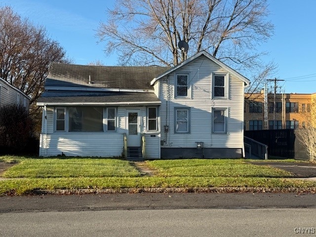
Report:
[[[126,111],[128,147],[140,147],[140,120],[140,110]]]

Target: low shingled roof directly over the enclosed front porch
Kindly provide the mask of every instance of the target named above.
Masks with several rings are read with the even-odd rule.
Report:
[[[99,91],[45,91],[38,103],[129,103],[157,102],[159,99],[151,92],[99,92]]]

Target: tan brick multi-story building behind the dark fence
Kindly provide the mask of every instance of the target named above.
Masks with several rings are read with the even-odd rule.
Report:
[[[315,116],[316,93],[276,94],[276,110],[272,93],[245,94],[244,130],[303,128]],[[274,118],[275,117],[275,118]]]

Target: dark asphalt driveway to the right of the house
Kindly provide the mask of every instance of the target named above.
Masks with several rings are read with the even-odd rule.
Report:
[[[278,169],[283,169],[294,174],[297,178],[316,178],[316,164],[304,163],[304,162],[260,162],[260,161],[250,161],[251,164],[256,165],[268,165],[276,167]]]

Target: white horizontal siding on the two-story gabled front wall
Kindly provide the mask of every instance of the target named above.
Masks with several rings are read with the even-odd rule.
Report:
[[[169,126],[169,132],[161,133],[161,140],[165,140],[163,147],[191,147],[196,142],[204,142],[205,148],[242,148],[243,141],[243,81],[228,74],[212,61],[203,58],[187,64],[177,70],[177,73],[191,73],[190,100],[174,98],[174,77],[165,77],[160,80],[160,129]],[[226,75],[226,99],[212,98],[213,75]],[[179,107],[191,108],[190,134],[175,133],[174,109]],[[227,108],[226,134],[212,132],[212,108]]]

